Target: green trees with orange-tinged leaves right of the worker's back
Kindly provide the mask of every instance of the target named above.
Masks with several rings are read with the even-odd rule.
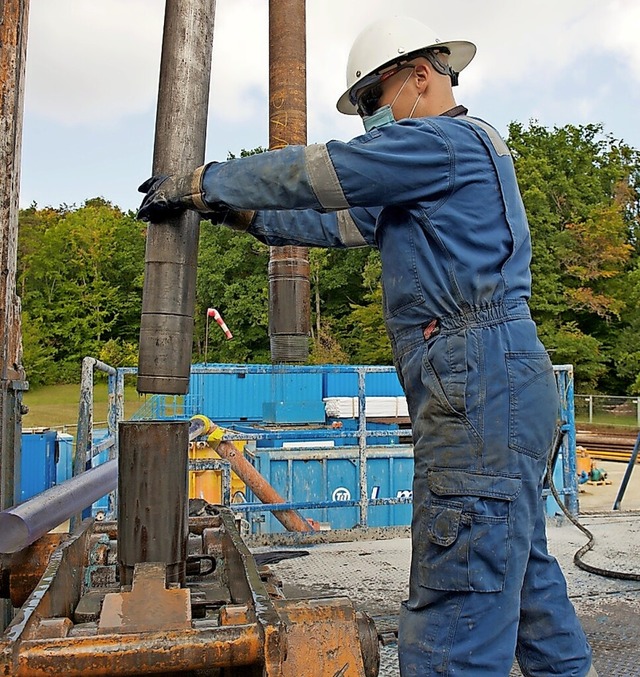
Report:
[[[606,390],[638,255],[638,153],[601,125],[513,123],[509,146],[531,227],[540,335],[556,363],[574,364],[578,388]]]

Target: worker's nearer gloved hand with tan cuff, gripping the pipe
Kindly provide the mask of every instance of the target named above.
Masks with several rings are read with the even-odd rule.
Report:
[[[146,193],[138,209],[141,221],[159,223],[174,217],[185,209],[211,211],[202,196],[202,175],[208,165],[198,167],[182,176],[152,176],[138,190]]]

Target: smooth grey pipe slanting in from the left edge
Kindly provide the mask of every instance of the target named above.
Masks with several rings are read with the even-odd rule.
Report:
[[[116,488],[118,462],[76,475],[0,512],[0,553],[18,552]]]

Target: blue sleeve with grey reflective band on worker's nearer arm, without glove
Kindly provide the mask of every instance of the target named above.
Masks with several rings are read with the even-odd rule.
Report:
[[[348,143],[287,146],[213,163],[202,174],[201,196],[234,209],[322,212],[437,201],[451,189],[451,154],[437,124],[403,120]]]

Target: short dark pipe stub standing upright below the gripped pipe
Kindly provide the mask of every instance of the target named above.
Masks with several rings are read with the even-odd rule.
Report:
[[[118,456],[120,584],[140,562],[164,562],[183,585],[188,523],[188,421],[122,421]]]

